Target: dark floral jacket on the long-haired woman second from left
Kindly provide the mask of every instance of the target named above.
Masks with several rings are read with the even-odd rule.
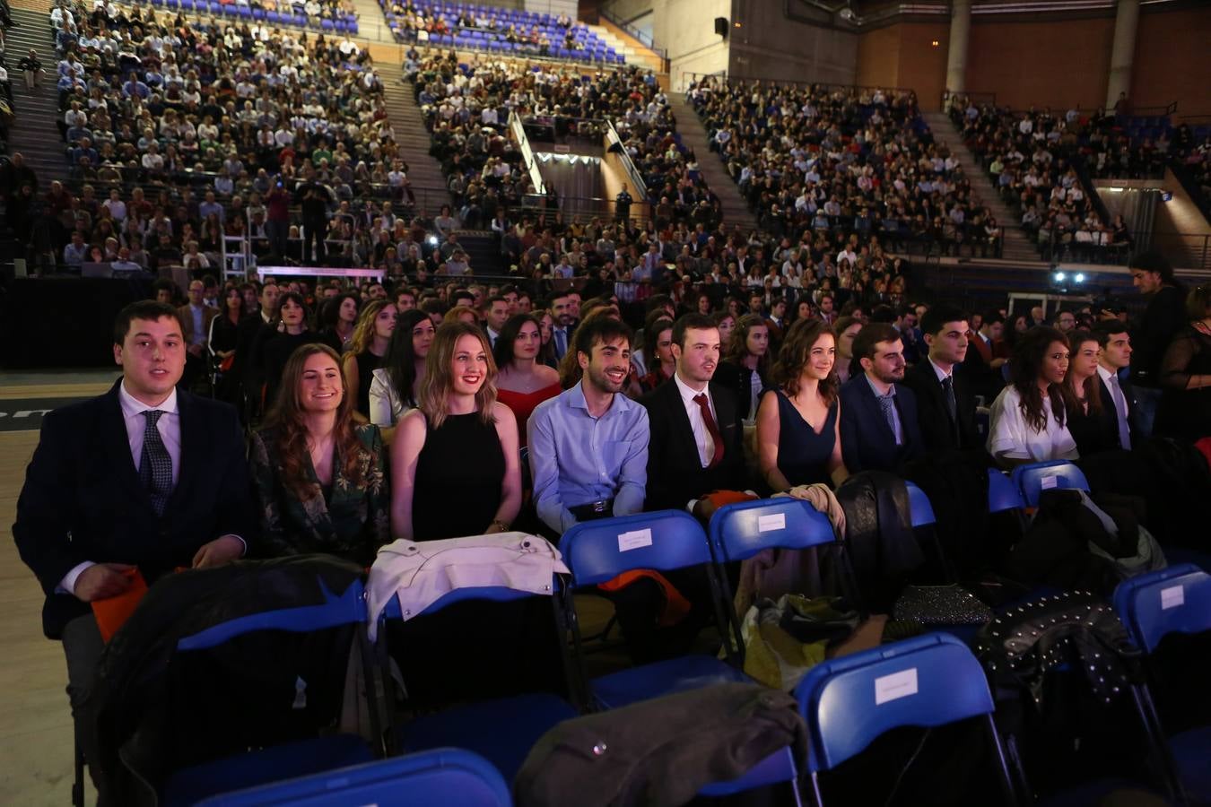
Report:
[[[322,552],[369,566],[378,548],[391,541],[390,484],[386,449],[378,426],[356,426],[361,443],[361,484],[343,472],[344,459],[334,457],[332,488],[325,497],[311,460],[308,475],[316,496],[302,501],[281,480],[277,436],[262,430],[252,437],[252,479],[260,506],[262,537],[254,554],[282,555]],[[339,451],[339,448],[335,449]]]

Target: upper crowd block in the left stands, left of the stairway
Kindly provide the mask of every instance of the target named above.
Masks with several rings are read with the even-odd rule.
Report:
[[[381,81],[368,52],[349,40],[257,36],[247,25],[224,30],[134,10],[125,25],[98,28],[85,41],[59,63],[76,178],[213,185],[211,174],[228,174],[246,183],[258,168],[293,173],[310,160],[351,198],[372,191],[372,173],[396,157]],[[73,75],[81,68],[85,75]],[[74,109],[84,113],[81,126],[67,122]],[[162,165],[153,158],[149,168],[143,156],[153,142]]]

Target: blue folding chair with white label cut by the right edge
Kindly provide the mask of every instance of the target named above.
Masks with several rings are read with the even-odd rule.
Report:
[[[1211,575],[1194,564],[1181,564],[1132,577],[1114,589],[1114,610],[1131,640],[1152,653],[1171,633],[1211,630]],[[1146,705],[1157,736],[1164,737],[1150,698]],[[1166,742],[1182,789],[1196,803],[1211,802],[1211,726]]]

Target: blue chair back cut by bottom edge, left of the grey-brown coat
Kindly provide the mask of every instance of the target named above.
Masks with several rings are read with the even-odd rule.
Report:
[[[199,807],[300,803],[510,807],[512,799],[509,785],[487,760],[461,749],[442,748],[213,796],[199,802]]]

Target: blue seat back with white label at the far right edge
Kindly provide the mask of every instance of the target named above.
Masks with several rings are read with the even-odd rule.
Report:
[[[1211,630],[1211,575],[1178,564],[1132,577],[1114,589],[1114,610],[1131,640],[1150,653],[1170,633]]]

